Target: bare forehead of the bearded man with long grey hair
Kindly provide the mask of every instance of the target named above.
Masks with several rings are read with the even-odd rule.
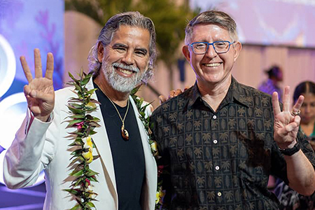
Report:
[[[111,38],[111,45],[122,43],[128,46],[149,48],[150,32],[141,27],[121,25]]]

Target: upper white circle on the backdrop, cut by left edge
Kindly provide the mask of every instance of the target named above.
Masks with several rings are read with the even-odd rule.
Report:
[[[14,52],[6,38],[0,34],[0,97],[8,91],[15,77],[15,71]]]

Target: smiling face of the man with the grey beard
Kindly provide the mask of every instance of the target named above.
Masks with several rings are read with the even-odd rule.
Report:
[[[147,29],[121,25],[113,33],[111,43],[99,44],[98,59],[102,72],[119,92],[130,92],[141,83],[149,63],[150,33]]]

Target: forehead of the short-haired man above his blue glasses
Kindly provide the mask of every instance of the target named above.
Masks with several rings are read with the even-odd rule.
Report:
[[[230,34],[228,29],[225,29],[216,24],[199,24],[193,27],[191,36],[192,42],[194,41],[230,41]]]

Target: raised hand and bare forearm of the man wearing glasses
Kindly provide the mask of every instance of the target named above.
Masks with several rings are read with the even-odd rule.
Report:
[[[293,112],[300,110],[304,97],[300,96],[293,106]],[[297,141],[297,132],[300,126],[300,116],[293,116],[290,109],[290,88],[286,87],[283,95],[283,111],[279,106],[278,94],[272,94],[274,109],[274,141],[280,149],[293,148]],[[302,195],[311,195],[315,190],[315,172],[311,162],[299,150],[293,155],[284,155],[287,165],[287,174],[290,188]]]

